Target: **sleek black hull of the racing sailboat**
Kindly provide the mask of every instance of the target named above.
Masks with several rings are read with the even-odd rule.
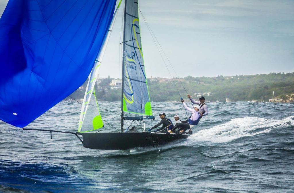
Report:
[[[174,133],[83,133],[85,148],[101,150],[126,150],[136,147],[158,146],[178,139],[186,139],[190,134]]]

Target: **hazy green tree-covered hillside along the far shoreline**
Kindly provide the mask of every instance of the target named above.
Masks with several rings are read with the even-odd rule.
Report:
[[[96,96],[102,101],[119,101],[121,89],[111,89],[109,83],[113,78],[100,79],[96,84]],[[86,83],[83,85],[83,88]],[[260,75],[236,75],[218,77],[192,77],[185,78],[152,78],[148,80],[151,101],[179,101],[180,95],[186,98],[186,91],[194,98],[198,94],[205,96],[207,101],[264,101],[275,97],[285,98],[287,94],[294,93],[294,72],[270,73]],[[185,89],[186,91],[185,91]],[[179,92],[178,92],[179,91]],[[208,94],[209,93],[209,96]],[[83,98],[84,90],[77,90],[72,96]]]

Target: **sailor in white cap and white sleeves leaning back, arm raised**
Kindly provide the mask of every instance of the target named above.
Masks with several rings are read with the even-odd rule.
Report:
[[[185,109],[190,111],[192,114],[188,118],[188,121],[182,121],[182,123],[177,123],[174,126],[172,131],[176,131],[176,133],[177,133],[177,129],[180,129],[179,133],[185,133],[187,129],[191,129],[194,126],[196,126],[199,123],[201,118],[201,115],[199,113],[200,106],[197,105],[196,107],[194,107],[194,109],[191,109],[185,104],[183,99],[181,100],[181,102],[183,103],[183,106],[185,107]]]

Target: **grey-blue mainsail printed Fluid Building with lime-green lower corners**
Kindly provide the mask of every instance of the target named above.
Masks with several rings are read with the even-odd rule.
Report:
[[[123,111],[152,115],[145,74],[138,1],[126,0],[123,50]]]

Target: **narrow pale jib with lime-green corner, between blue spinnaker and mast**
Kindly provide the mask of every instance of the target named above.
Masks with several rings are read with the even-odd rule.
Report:
[[[118,6],[114,12],[110,28],[108,29],[108,32],[106,35],[106,39],[103,43],[103,48],[95,61],[94,67],[88,79],[88,84],[86,87],[86,92],[85,92],[83,105],[81,109],[80,121],[78,123],[78,132],[81,132],[81,133],[93,131],[103,127],[103,122],[102,122],[102,118],[100,115],[98,102],[97,102],[96,94],[95,94],[95,83],[96,83],[99,68],[101,66],[101,61],[102,61],[104,52],[106,50],[106,46],[110,38],[113,24],[116,19],[117,12],[120,5],[121,5],[121,0],[118,2]]]

